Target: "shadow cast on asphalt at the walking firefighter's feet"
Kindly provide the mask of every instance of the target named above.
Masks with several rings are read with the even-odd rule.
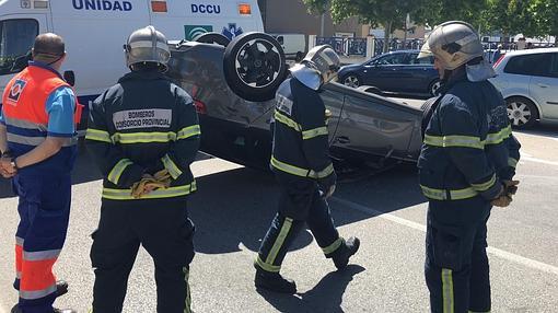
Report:
[[[342,295],[352,278],[365,268],[360,265],[349,265],[344,270],[327,274],[311,290],[304,293],[281,294],[264,289],[256,291],[278,312],[302,313],[323,312],[342,313]]]

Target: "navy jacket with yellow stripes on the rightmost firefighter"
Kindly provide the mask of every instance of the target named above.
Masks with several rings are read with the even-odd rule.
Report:
[[[442,93],[418,160],[422,193],[434,200],[493,199],[520,159],[505,103],[489,81],[470,82],[465,70]]]

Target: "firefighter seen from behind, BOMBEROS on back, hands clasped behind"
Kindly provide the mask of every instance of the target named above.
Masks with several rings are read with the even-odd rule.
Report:
[[[104,176],[91,247],[93,312],[123,311],[140,244],[155,264],[158,312],[190,312],[194,224],[186,201],[196,190],[189,165],[199,146],[197,113],[164,76],[170,50],[162,33],[132,32],[125,55],[131,71],[94,101],[85,137]]]

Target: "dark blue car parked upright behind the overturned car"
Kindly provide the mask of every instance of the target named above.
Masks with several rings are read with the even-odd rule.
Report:
[[[418,59],[419,50],[376,56],[361,65],[345,66],[339,82],[348,86],[372,85],[383,92],[435,95],[440,78],[432,57]]]

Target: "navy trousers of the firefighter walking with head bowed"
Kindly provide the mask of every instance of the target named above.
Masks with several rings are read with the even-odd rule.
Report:
[[[322,197],[317,184],[302,181],[299,184],[280,184],[278,213],[271,221],[256,265],[264,270],[279,273],[289,246],[307,225],[326,257],[333,257],[344,244],[334,225],[327,201]]]

